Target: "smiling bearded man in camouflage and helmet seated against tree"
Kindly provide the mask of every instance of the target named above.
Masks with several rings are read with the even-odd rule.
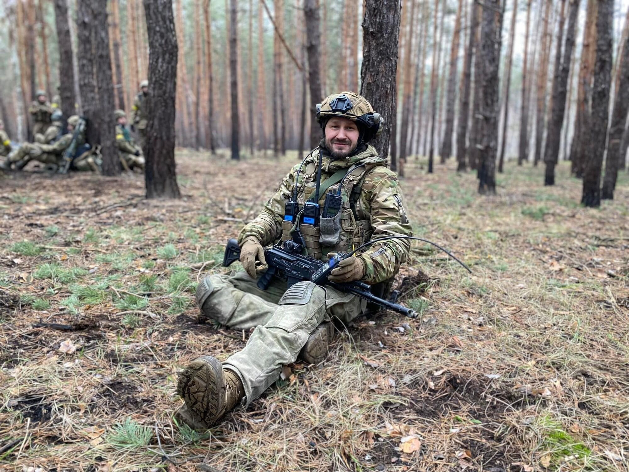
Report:
[[[282,366],[298,357],[311,364],[325,360],[335,332],[333,318],[348,323],[365,311],[366,303],[358,296],[309,281],[287,289],[286,282],[274,279],[269,289],[260,290],[255,262],[265,264],[264,245],[292,237],[293,223],[299,223],[309,256],[326,261],[332,252],[351,250],[377,237],[412,235],[398,178],[368,144],[383,125],[381,116],[362,96],[344,92],[326,98],[316,120],[323,129],[319,147],[303,165],[292,168],[262,213],[240,232],[240,261],[246,272],[213,274],[199,284],[200,320],[255,330],[247,346],[224,362],[199,357],[179,376],[177,393],[185,404],[176,415],[194,428],[213,425],[239,403],[247,407],[279,378]],[[331,233],[324,232],[323,225],[308,224],[308,218],[301,221],[299,215],[294,222],[284,219],[284,205],[295,191],[299,208],[315,193],[320,153],[318,203],[323,208],[327,194],[342,195],[340,225],[335,226],[340,229]],[[408,253],[408,240],[377,242],[340,262],[328,279],[387,284]]]

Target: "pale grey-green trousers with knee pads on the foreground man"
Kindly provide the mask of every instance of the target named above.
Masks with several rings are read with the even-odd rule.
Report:
[[[306,296],[296,296],[296,288]],[[206,276],[196,298],[204,317],[234,329],[255,327],[247,346],[223,362],[242,381],[245,407],[279,378],[282,366],[297,359],[318,325],[331,317],[348,323],[366,305],[355,295],[307,281],[287,290],[286,282],[276,279],[261,290],[245,272]]]

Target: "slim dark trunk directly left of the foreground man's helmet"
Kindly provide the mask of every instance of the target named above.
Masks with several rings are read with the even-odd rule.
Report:
[[[304,15],[306,18],[306,40],[308,42],[308,82],[310,87],[310,147],[315,148],[321,140],[321,127],[314,119],[316,104],[324,98],[321,96],[321,77],[319,69],[319,47],[321,31],[319,25],[319,7],[317,0],[304,1]],[[364,67],[363,62],[363,67]],[[364,82],[363,82],[364,84]],[[364,85],[363,85],[364,87]]]

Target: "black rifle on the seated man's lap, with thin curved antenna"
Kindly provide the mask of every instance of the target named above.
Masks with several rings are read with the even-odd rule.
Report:
[[[384,298],[379,298],[371,293],[370,285],[364,282],[357,281],[350,283],[336,283],[328,280],[328,275],[335,267],[337,267],[338,262],[343,259],[347,259],[347,257],[353,256],[357,250],[362,249],[367,245],[388,239],[416,239],[427,242],[435,247],[438,247],[438,249],[441,249],[443,252],[448,254],[448,256],[452,257],[452,259],[459,262],[459,264],[465,267],[469,273],[472,272],[469,267],[459,261],[456,257],[452,256],[452,254],[443,249],[443,247],[440,247],[439,245],[426,239],[414,236],[387,236],[377,238],[357,247],[349,254],[345,252],[338,252],[328,262],[322,262],[318,259],[314,259],[313,257],[303,256],[303,246],[292,240],[287,240],[284,242],[284,245],[276,244],[272,247],[264,249],[264,259],[266,259],[269,268],[258,279],[258,288],[262,290],[269,288],[269,284],[274,277],[285,279],[289,287],[303,280],[309,280],[317,285],[328,285],[345,293],[353,293],[353,295],[357,295],[374,305],[380,306],[381,308],[386,308],[392,312],[406,315],[409,318],[416,318],[417,312],[415,310],[411,310],[411,308],[406,308],[406,306],[395,303],[399,295],[396,291],[392,292],[391,299],[384,300]],[[238,261],[238,259],[240,259],[240,246],[238,245],[237,240],[230,239],[225,247],[223,266],[228,267],[232,262]]]

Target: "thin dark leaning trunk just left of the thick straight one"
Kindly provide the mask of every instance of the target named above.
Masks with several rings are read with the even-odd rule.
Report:
[[[478,15],[475,0],[470,1],[470,30],[465,51],[465,62],[463,66],[462,90],[459,97],[459,121],[457,123],[457,172],[465,172],[467,163],[467,123],[470,114],[470,91],[472,89],[472,59],[474,59],[474,39],[476,38],[476,28],[478,25]]]

